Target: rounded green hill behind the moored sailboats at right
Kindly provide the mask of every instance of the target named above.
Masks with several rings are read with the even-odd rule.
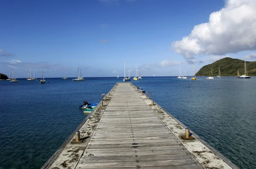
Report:
[[[256,61],[247,62],[247,73],[249,76],[256,76]],[[230,57],[225,57],[223,59],[217,60],[216,62],[203,66],[195,76],[209,76],[209,71],[212,70],[212,76],[218,75],[218,68],[221,70],[221,76],[237,76],[237,70],[239,69],[239,74],[244,74],[244,60],[233,59]]]

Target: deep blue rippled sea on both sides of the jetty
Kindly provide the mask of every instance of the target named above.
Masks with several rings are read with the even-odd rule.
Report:
[[[0,82],[0,169],[40,169],[122,77]],[[131,80],[241,169],[256,168],[256,77]]]

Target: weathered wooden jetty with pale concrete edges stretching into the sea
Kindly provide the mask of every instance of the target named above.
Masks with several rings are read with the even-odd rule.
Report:
[[[184,133],[184,128],[177,127],[179,124],[176,122],[174,125],[177,128],[170,130],[173,127],[165,120],[173,121],[173,118],[159,112],[161,107],[150,106],[151,101],[146,99],[145,95],[141,96],[130,83],[119,83],[109,95],[111,99],[101,111],[102,114],[98,114],[98,121],[93,122],[95,117],[91,116],[88,120],[92,123],[84,123],[84,126],[93,128],[91,132],[87,132],[90,138],[83,141],[81,146],[71,143],[71,139],[68,140],[67,145],[57,153],[58,157],[54,160],[52,158],[42,168],[237,168],[226,158],[217,156],[219,153],[214,149],[212,152],[207,147],[202,148],[204,144],[200,140],[182,140],[181,131],[177,130]],[[100,110],[100,107],[96,108]],[[82,127],[81,130],[83,131]],[[66,152],[64,149],[67,149]],[[69,154],[71,149],[77,150],[78,154]],[[77,158],[73,158],[74,156]]]

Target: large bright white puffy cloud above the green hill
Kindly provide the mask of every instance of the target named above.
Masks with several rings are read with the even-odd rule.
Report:
[[[227,0],[208,23],[196,25],[189,36],[172,42],[185,59],[200,54],[225,55],[256,50],[256,0]]]

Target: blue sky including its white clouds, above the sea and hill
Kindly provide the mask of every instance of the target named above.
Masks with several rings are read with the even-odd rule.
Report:
[[[74,77],[79,64],[84,77],[123,76],[126,60],[131,76],[135,64],[141,76],[192,76],[194,63],[254,61],[256,19],[243,11],[255,2],[237,1],[3,0],[0,73],[26,78],[29,66],[40,77],[43,66],[45,77]]]

